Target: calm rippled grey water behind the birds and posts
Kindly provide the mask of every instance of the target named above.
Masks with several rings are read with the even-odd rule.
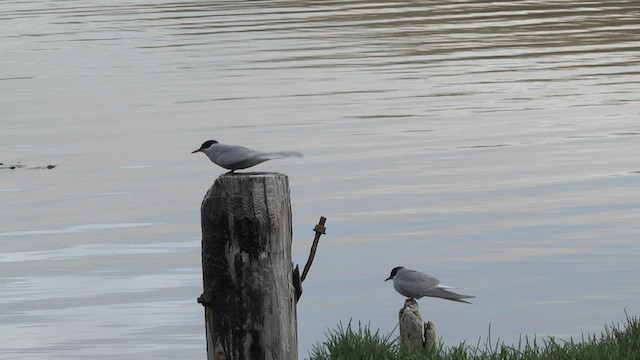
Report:
[[[448,344],[599,332],[640,306],[640,4],[3,1],[2,359],[204,359],[215,138],[304,159],[294,258],[328,234],[300,354],[393,329],[423,270]]]

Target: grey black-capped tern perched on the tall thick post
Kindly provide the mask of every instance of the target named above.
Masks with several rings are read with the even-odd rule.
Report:
[[[227,174],[233,174],[236,170],[250,168],[267,160],[302,157],[302,153],[296,151],[259,152],[240,145],[220,144],[215,140],[205,141],[199,149],[191,153],[197,152],[207,155],[216,165],[231,170]]]

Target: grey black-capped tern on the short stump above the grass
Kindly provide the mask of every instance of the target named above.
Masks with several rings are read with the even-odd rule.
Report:
[[[385,280],[393,280],[393,288],[407,297],[407,301],[420,299],[423,296],[439,297],[442,299],[459,301],[471,304],[463,299],[471,299],[475,296],[456,294],[447,289],[449,286],[441,285],[440,280],[416,270],[398,266],[391,270],[391,275]]]

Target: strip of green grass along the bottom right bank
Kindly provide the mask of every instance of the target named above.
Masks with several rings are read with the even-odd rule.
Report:
[[[395,330],[395,329],[394,329]],[[536,337],[520,339],[517,345],[495,344],[490,337],[484,344],[445,347],[442,341],[435,349],[411,352],[392,337],[368,325],[358,323],[357,330],[351,322],[345,327],[327,332],[327,340],[317,343],[309,354],[311,360],[640,360],[640,320],[626,316],[622,324],[605,325],[599,336],[582,336],[580,341],[560,340],[554,337],[538,340]]]

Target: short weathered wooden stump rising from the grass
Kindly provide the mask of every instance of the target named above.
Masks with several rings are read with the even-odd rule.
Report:
[[[436,344],[435,325],[431,321],[422,323],[420,309],[415,299],[407,300],[398,314],[400,343],[409,350],[433,349]],[[424,332],[423,332],[424,331]]]

